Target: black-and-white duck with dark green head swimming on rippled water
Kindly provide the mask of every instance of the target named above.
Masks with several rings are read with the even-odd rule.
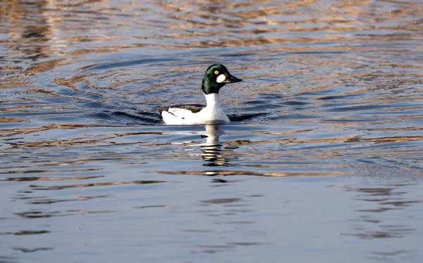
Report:
[[[207,105],[180,104],[160,110],[165,124],[206,124],[211,122],[230,122],[223,113],[219,102],[219,91],[228,83],[242,82],[229,73],[222,64],[213,64],[207,68],[202,79],[202,91]]]

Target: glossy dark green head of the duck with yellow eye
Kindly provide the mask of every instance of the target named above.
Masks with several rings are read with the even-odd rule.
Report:
[[[225,86],[225,84],[242,81],[242,79],[233,77],[224,65],[213,64],[207,68],[204,74],[202,90],[204,94],[219,94],[219,90],[222,86]]]

